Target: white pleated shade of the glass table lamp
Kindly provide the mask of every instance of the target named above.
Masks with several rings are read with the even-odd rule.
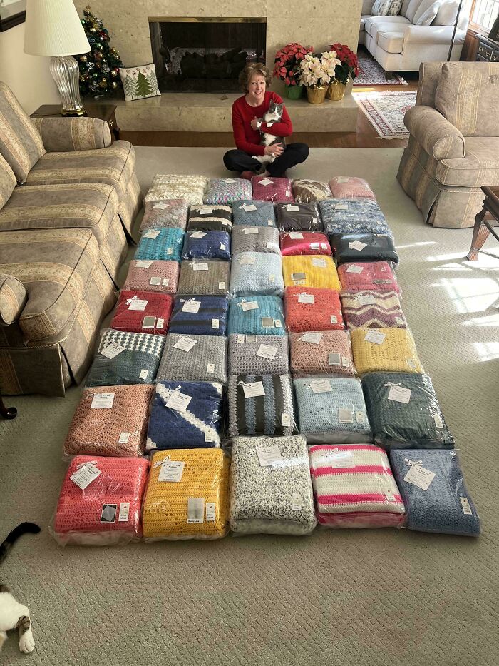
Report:
[[[27,0],[24,53],[73,56],[91,51],[73,0]]]

